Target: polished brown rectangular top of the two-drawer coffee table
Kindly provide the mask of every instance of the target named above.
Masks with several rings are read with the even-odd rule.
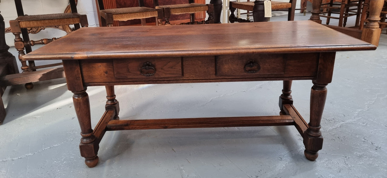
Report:
[[[310,20],[206,25],[85,27],[23,60],[207,56],[374,50]]]

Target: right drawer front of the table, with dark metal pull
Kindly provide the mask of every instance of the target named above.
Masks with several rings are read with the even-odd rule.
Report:
[[[217,76],[265,76],[285,72],[284,54],[249,54],[218,56]]]

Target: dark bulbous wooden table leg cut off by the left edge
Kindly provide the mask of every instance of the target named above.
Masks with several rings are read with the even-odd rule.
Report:
[[[0,76],[19,73],[15,56],[8,52],[9,46],[5,44],[4,32],[5,23],[3,16],[0,14]],[[3,96],[6,85],[4,86],[0,84],[0,86],[0,124],[2,124],[5,119],[5,108],[1,96]]]

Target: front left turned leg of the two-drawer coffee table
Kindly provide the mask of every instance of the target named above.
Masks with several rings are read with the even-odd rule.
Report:
[[[99,145],[91,129],[89,95],[87,95],[86,89],[72,92],[74,93],[74,108],[80,125],[80,135],[82,136],[79,144],[80,155],[85,158],[86,165],[92,168],[98,164]]]

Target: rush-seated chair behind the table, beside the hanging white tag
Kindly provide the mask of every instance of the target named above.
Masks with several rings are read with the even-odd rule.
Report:
[[[251,2],[230,2],[230,16],[229,21],[234,22],[251,22],[247,19],[241,19],[235,17],[235,10],[242,9],[253,12],[254,22],[268,21],[269,18],[264,17],[264,2],[263,1],[251,1]],[[294,13],[296,9],[296,0],[289,0],[289,2],[278,2],[271,1],[271,10],[272,11],[287,11],[288,12],[288,21],[294,20]],[[263,14],[262,14],[263,13]]]

